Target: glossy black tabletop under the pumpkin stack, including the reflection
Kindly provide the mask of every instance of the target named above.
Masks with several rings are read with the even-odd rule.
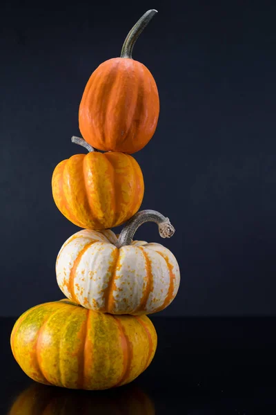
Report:
[[[275,414],[276,318],[151,317],[150,367],[130,385],[72,391],[32,382],[10,351],[15,319],[1,322],[0,414]]]

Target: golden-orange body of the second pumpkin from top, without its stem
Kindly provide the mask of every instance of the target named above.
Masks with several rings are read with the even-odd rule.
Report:
[[[80,228],[112,228],[139,210],[144,178],[128,154],[76,154],[55,168],[52,196],[61,213]]]

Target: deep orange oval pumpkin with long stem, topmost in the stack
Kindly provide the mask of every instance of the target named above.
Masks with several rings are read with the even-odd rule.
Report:
[[[79,129],[96,149],[132,154],[152,138],[159,95],[152,74],[132,59],[137,37],[155,15],[149,10],[130,30],[121,57],[108,59],[92,73],[79,106]]]

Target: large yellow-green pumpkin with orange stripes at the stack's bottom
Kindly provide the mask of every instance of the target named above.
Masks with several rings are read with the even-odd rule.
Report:
[[[11,334],[14,358],[37,382],[70,389],[108,389],[131,382],[155,354],[146,316],[113,316],[68,300],[26,311]]]

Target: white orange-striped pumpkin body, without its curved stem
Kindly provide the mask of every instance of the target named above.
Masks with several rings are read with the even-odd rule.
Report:
[[[157,313],[177,295],[179,266],[159,243],[132,241],[117,248],[111,230],[81,230],[61,247],[57,284],[66,297],[115,315]]]

